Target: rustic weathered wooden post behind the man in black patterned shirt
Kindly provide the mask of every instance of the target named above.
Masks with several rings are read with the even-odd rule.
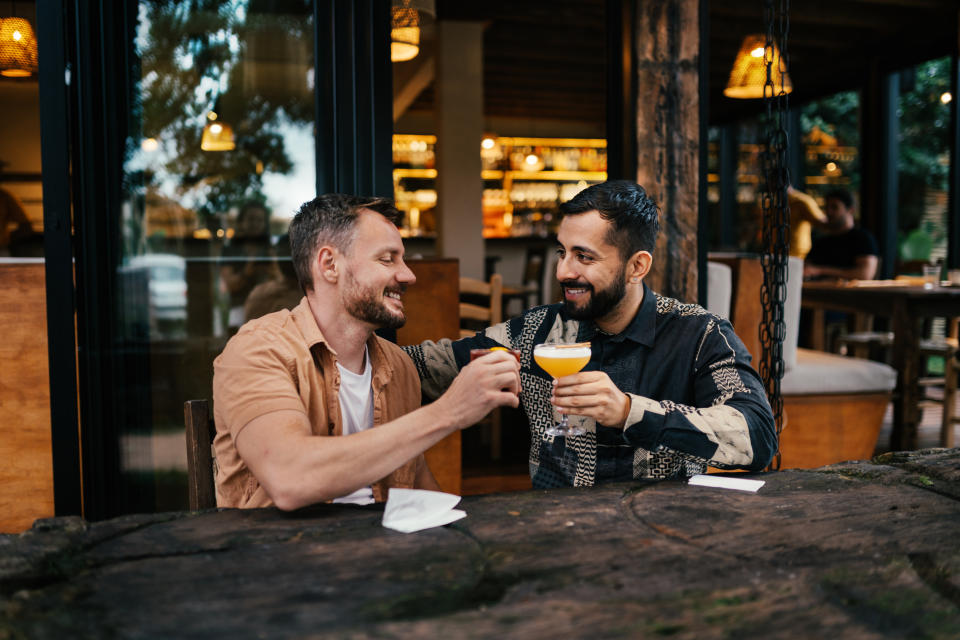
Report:
[[[637,182],[660,205],[647,283],[697,300],[700,2],[644,0],[637,11]]]

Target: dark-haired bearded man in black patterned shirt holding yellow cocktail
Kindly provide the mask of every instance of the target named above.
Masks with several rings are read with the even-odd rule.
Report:
[[[766,467],[777,450],[773,415],[730,323],[643,282],[659,229],[643,187],[594,185],[560,211],[563,302],[475,337],[405,347],[425,394],[445,389],[470,349],[519,350],[534,488],[683,477],[707,465]],[[589,363],[558,381],[533,359],[536,344],[587,341]],[[548,435],[554,411],[569,414],[585,435]]]

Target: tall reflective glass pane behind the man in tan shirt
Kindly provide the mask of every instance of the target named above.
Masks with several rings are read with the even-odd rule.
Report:
[[[118,313],[149,376],[121,464],[149,511],[186,506],[183,402],[211,398],[226,340],[299,300],[262,285],[289,282],[282,236],[314,196],[312,4],[143,1],[134,53]]]

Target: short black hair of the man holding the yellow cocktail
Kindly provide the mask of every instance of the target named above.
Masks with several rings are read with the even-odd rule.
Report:
[[[609,180],[587,187],[560,205],[564,216],[598,211],[610,222],[607,242],[627,260],[637,251],[650,251],[657,244],[660,210],[643,187],[629,180]]]

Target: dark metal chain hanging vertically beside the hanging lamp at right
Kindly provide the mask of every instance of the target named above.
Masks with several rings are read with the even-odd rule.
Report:
[[[775,3],[777,6],[775,6]],[[763,17],[767,28],[765,60],[767,78],[763,88],[766,106],[765,145],[761,154],[765,185],[761,191],[763,207],[763,324],[760,344],[763,357],[760,377],[767,390],[776,421],[777,441],[785,426],[780,380],[783,378],[783,340],[786,323],[783,317],[787,297],[787,257],[790,249],[790,208],[787,188],[790,170],[787,167],[787,112],[789,103],[783,90],[782,74],[787,70],[787,35],[790,31],[790,0],[764,0]],[[774,46],[776,45],[776,46]],[[775,51],[779,50],[779,55]],[[779,88],[775,80],[780,80]],[[795,274],[798,277],[799,274]],[[771,465],[780,468],[780,451]]]

